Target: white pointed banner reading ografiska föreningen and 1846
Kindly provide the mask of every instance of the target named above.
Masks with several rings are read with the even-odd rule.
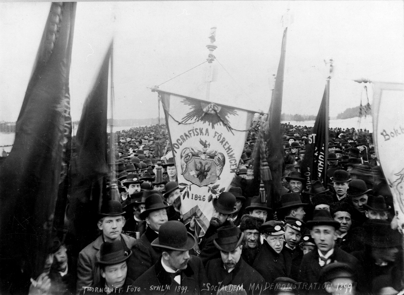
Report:
[[[181,211],[203,232],[212,199],[227,191],[237,172],[253,111],[159,92],[177,167]]]

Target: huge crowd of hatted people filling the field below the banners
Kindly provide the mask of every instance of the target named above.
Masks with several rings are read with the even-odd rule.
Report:
[[[328,184],[305,187],[311,128],[282,124],[276,207],[262,203],[252,125],[227,192],[213,199],[204,236],[183,223],[164,125],[117,132],[119,200],[103,203],[97,239],[69,253],[55,238],[30,294],[391,294],[403,286],[402,236],[367,130],[331,128]],[[258,176],[259,177],[259,176]]]

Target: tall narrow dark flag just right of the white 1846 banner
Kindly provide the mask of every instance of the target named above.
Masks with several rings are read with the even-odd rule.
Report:
[[[275,203],[279,201],[282,192],[282,136],[280,130],[280,117],[282,111],[282,93],[286,55],[286,36],[288,28],[283,32],[282,49],[278,72],[276,74],[275,88],[272,91],[271,105],[269,106],[267,121],[264,124],[265,140],[267,141],[268,164],[272,180],[263,181],[267,194],[267,202],[274,208]]]

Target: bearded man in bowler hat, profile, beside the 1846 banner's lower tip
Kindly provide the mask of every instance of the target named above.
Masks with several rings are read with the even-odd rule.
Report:
[[[213,214],[210,219],[210,225],[206,230],[202,241],[199,244],[199,257],[206,266],[208,260],[220,258],[220,251],[216,248],[213,240],[217,238],[217,230],[222,226],[233,225],[230,221],[230,215],[236,213],[236,197],[231,192],[222,192],[219,197],[213,199]]]

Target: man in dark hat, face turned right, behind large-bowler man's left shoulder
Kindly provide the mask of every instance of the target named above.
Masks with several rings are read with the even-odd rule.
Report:
[[[168,221],[166,206],[161,195],[154,193],[145,199],[146,209],[140,213],[140,218],[146,220],[145,233],[132,247],[133,257],[136,260],[135,272],[131,278],[136,280],[141,274],[154,265],[160,253],[151,247],[151,242],[158,238],[160,226]]]

